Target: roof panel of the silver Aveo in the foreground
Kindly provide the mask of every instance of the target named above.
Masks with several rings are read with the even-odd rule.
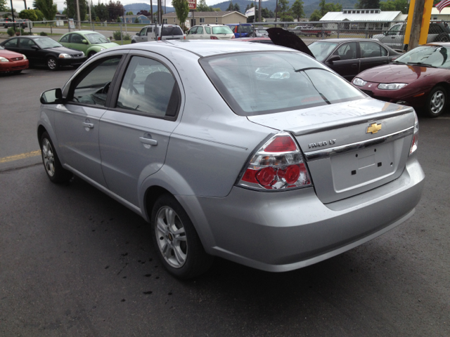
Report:
[[[167,54],[174,49],[182,49],[200,57],[221,55],[228,53],[240,53],[246,51],[294,51],[291,48],[276,46],[275,44],[254,44],[239,41],[216,41],[216,40],[170,40],[142,42],[140,44],[128,44],[116,48],[133,48]]]

